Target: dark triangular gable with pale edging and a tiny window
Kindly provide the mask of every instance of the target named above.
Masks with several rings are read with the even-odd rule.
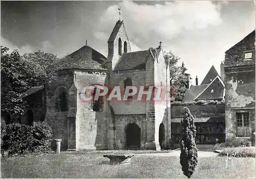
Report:
[[[224,84],[219,76],[216,76],[204,91],[195,100],[222,99],[224,95]]]

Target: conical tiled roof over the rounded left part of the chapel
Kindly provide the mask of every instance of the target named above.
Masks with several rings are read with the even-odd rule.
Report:
[[[57,70],[62,69],[94,69],[107,70],[102,68],[101,63],[105,57],[90,46],[83,46],[76,52],[59,59],[56,63]]]

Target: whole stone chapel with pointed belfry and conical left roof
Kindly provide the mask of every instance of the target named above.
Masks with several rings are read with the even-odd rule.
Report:
[[[102,64],[105,64],[102,65]],[[108,87],[169,84],[168,63],[161,43],[133,52],[118,20],[108,40],[108,57],[87,44],[56,63],[57,80],[33,87],[24,99],[29,107],[22,124],[45,121],[62,150],[155,149],[170,140],[170,101],[108,101],[80,103],[85,86]],[[154,90],[153,90],[154,91]]]

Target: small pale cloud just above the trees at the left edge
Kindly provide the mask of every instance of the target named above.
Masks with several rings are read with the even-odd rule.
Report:
[[[11,41],[9,41],[8,39],[3,38],[3,37],[1,38],[1,45],[9,48],[8,53],[12,53],[14,49],[17,49],[19,51],[20,55],[34,52],[34,48],[29,44],[23,45],[19,48],[14,43],[12,43]]]

